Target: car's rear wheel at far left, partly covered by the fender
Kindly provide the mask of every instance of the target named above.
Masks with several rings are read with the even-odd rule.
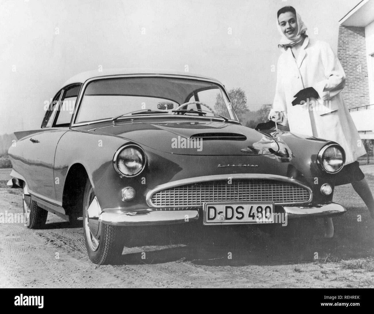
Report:
[[[22,199],[25,226],[29,229],[39,229],[45,226],[48,211],[39,207],[34,200],[31,200],[26,184],[23,187]]]

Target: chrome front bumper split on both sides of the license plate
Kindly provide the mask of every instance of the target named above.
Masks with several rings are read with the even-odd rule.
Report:
[[[338,203],[329,203],[313,207],[276,206],[286,214],[287,219],[305,217],[334,217],[344,214],[347,210]],[[177,224],[199,220],[198,210],[155,211],[147,209],[141,213],[134,212],[102,212],[99,221],[112,226],[146,226],[157,224]]]

